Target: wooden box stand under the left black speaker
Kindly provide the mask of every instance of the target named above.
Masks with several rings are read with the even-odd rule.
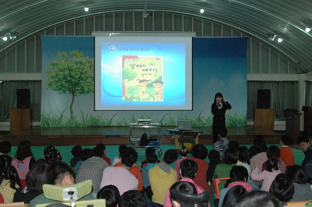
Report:
[[[10,109],[10,133],[30,128],[31,116],[31,109]]]

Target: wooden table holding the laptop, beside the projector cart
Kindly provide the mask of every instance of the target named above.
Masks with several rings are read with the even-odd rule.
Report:
[[[177,129],[166,129],[170,134],[174,134],[174,146],[175,149],[180,148],[180,142],[187,142],[187,143],[195,143],[198,144],[198,138],[202,131],[193,130],[193,131],[181,131]]]

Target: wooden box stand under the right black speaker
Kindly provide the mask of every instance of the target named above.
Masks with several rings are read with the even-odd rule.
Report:
[[[274,132],[274,109],[255,108],[255,129]]]

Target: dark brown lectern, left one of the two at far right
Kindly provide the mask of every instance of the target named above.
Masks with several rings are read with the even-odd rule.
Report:
[[[300,136],[300,112],[285,112],[286,135],[291,138],[291,143],[296,143]]]

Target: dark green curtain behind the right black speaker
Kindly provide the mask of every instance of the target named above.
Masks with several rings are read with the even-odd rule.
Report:
[[[275,120],[285,120],[284,110],[298,109],[298,81],[247,81],[247,120],[254,120],[258,89],[271,89]]]

